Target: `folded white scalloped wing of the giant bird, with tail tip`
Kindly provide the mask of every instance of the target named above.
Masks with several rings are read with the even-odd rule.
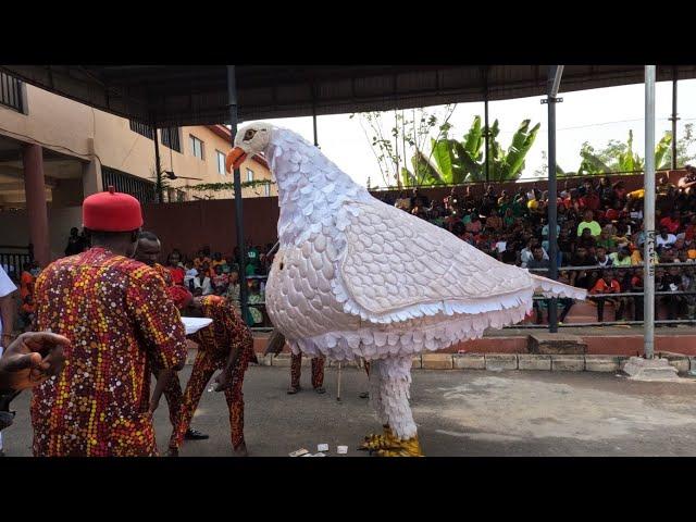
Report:
[[[583,290],[501,263],[378,200],[346,206],[351,208],[339,269],[344,310],[362,319],[387,323],[440,312],[478,314],[519,307],[535,288],[584,298]]]

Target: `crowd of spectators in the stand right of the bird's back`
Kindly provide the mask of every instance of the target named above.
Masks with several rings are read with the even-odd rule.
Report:
[[[643,291],[643,188],[629,191],[621,179],[609,177],[566,179],[556,195],[558,208],[559,279],[586,288],[597,302],[597,320],[604,321],[604,308],[610,302],[617,320],[643,320],[639,296],[611,294]],[[656,237],[659,263],[685,266],[659,266],[656,270],[658,304],[668,319],[696,319],[696,167],[686,166],[686,175],[676,185],[660,175],[656,194]],[[538,271],[549,269],[548,191],[537,184],[514,192],[485,186],[474,194],[472,186],[453,187],[443,200],[428,198],[414,188],[409,195],[386,195],[381,199],[410,212],[497,260]],[[581,268],[568,270],[569,268]],[[566,269],[566,270],[563,270]],[[546,301],[536,303],[537,321]],[[560,300],[562,321],[572,301]]]

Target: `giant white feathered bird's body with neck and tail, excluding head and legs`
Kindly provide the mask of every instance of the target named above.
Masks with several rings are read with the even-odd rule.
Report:
[[[291,130],[264,152],[281,207],[266,309],[293,351],[405,358],[521,321],[536,288],[585,298],[373,198]]]

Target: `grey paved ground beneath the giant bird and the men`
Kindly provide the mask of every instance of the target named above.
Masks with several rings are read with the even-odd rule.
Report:
[[[190,366],[183,372],[188,378]],[[288,368],[252,366],[245,383],[246,437],[251,456],[287,456],[327,443],[347,445],[378,428],[358,395],[366,377],[344,370],[336,400],[336,371],[327,394],[285,394]],[[302,383],[309,378],[303,369]],[[13,403],[15,424],[3,432],[9,456],[30,455],[28,395]],[[413,372],[412,406],[428,456],[696,456],[696,381],[634,383],[613,374],[554,372]],[[209,440],[186,443],[183,456],[228,456],[229,427],[221,394],[206,393],[194,426]],[[160,448],[170,425],[165,402],[156,414]],[[343,457],[343,456],[341,456]]]

